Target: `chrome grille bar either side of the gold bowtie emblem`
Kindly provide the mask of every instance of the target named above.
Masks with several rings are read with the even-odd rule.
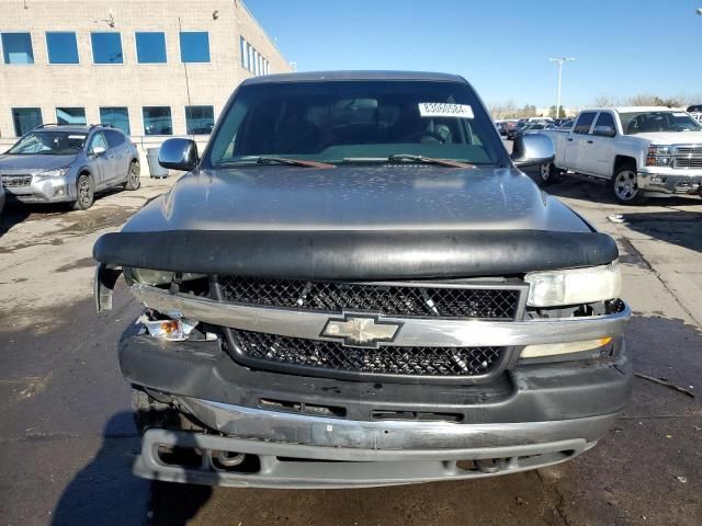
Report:
[[[156,287],[132,285],[132,293],[148,308],[174,317],[245,331],[280,334],[307,340],[335,341],[322,335],[329,312],[251,307],[212,299],[170,294]],[[484,321],[463,319],[427,319],[383,316],[383,322],[400,325],[393,346],[521,346],[567,343],[620,336],[624,333],[631,309],[608,316],[541,319],[529,321]]]

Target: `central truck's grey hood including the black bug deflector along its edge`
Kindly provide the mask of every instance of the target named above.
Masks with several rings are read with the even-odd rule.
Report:
[[[184,175],[93,256],[201,274],[419,279],[603,265],[618,251],[517,170],[269,165]]]

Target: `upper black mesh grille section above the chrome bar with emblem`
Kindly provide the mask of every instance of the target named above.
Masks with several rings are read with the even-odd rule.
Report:
[[[225,301],[297,310],[342,312],[367,310],[385,316],[422,316],[513,320],[518,316],[521,288],[508,285],[393,284],[305,282],[220,276]]]

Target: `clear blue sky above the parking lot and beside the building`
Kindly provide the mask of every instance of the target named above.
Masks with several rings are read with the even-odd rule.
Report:
[[[599,95],[702,98],[702,0],[245,0],[301,71],[463,75],[488,103],[548,106]],[[700,101],[702,102],[702,101]]]

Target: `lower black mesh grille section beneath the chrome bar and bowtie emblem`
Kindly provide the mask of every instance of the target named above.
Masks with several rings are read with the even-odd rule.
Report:
[[[336,373],[475,377],[499,368],[506,347],[347,347],[336,342],[233,330],[247,357]]]

